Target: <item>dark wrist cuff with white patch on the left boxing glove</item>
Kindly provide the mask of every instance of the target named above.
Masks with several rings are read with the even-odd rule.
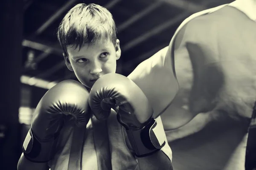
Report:
[[[47,162],[52,159],[55,144],[54,137],[43,142],[38,140],[30,128],[23,143],[23,154],[29,161],[36,163]]]

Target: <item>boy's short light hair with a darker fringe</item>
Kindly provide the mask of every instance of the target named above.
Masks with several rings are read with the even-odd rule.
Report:
[[[93,43],[102,38],[116,43],[116,24],[108,9],[97,4],[80,3],[67,12],[58,27],[58,41],[64,54],[67,46],[79,49],[85,43]]]

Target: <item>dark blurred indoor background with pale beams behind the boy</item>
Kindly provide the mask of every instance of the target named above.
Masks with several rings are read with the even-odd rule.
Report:
[[[0,3],[0,170],[17,169],[33,111],[56,83],[75,79],[64,63],[57,28],[78,3],[96,3],[113,14],[122,57],[117,73],[128,76],[143,60],[169,45],[189,15],[233,0],[2,0]]]

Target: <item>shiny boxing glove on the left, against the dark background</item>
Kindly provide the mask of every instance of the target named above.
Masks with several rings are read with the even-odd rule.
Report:
[[[47,162],[65,119],[70,116],[79,127],[90,119],[89,92],[75,80],[64,80],[42,97],[31,121],[31,128],[23,143],[23,154],[32,162]]]

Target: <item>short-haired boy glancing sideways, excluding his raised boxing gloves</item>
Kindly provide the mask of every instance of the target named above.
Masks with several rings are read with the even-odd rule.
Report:
[[[58,40],[64,50],[67,68],[74,71],[88,91],[99,77],[115,73],[116,60],[121,56],[121,49],[116,37],[115,23],[107,9],[96,4],[76,5],[62,20],[58,28]],[[77,86],[79,85],[74,87],[84,92]],[[58,95],[56,93],[56,96]],[[84,94],[84,98],[85,96],[87,94]],[[83,99],[79,99],[81,100]],[[88,108],[83,110],[88,112]],[[156,121],[162,126],[160,116]],[[134,156],[135,148],[131,147],[113,111],[107,121],[98,121],[91,115],[86,128],[75,127],[67,120],[58,136],[52,159],[44,163],[35,163],[22,155],[18,169],[172,169],[172,151],[164,132],[163,135],[166,144],[161,150],[139,158]]]

